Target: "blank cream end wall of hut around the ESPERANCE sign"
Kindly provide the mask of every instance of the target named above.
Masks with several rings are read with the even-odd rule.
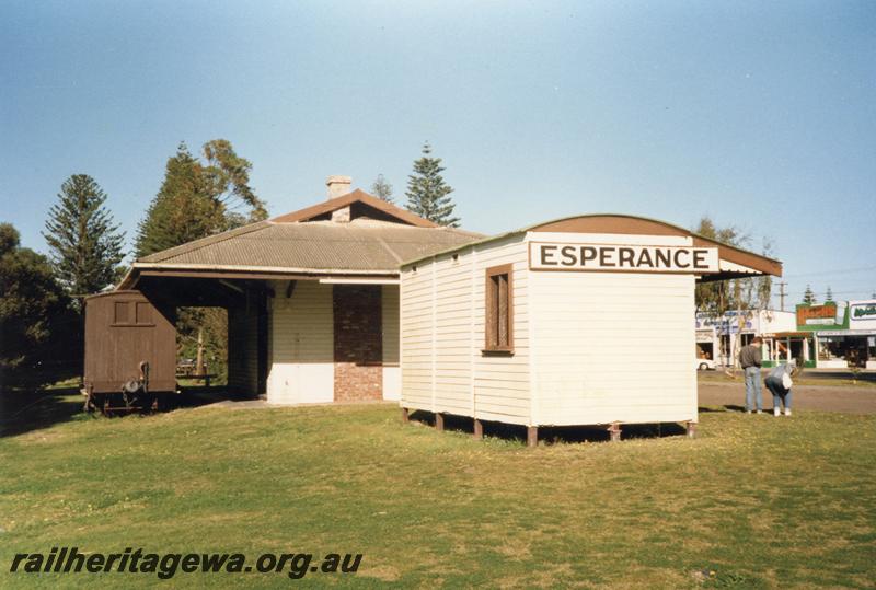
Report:
[[[690,238],[530,233],[532,241],[691,245]],[[696,419],[693,275],[529,275],[533,423]]]

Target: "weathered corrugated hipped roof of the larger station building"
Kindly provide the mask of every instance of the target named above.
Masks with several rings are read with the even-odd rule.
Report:
[[[452,228],[416,228],[369,219],[355,219],[349,223],[266,221],[159,252],[138,262],[161,266],[396,273],[402,261],[477,238],[479,234]]]

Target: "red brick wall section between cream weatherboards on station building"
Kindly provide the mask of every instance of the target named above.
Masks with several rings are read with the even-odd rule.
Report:
[[[335,285],[335,402],[383,398],[379,285]]]

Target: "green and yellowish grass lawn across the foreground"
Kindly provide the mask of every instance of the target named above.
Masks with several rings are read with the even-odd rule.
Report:
[[[64,545],[364,554],[308,587],[873,587],[876,417],[700,418],[695,440],[530,450],[402,425],[391,405],[80,415],[0,439],[0,587],[158,581],[8,572]]]

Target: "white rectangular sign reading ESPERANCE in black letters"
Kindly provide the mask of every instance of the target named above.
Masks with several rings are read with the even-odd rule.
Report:
[[[530,242],[529,268],[701,275],[718,271],[718,248]]]

